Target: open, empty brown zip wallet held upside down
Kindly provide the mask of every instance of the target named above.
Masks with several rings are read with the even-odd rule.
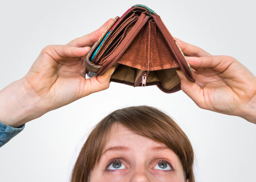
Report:
[[[159,15],[144,5],[134,5],[117,16],[85,59],[86,74],[103,75],[115,65],[110,81],[137,86],[156,85],[165,93],[181,90],[181,68],[195,82],[179,45]]]

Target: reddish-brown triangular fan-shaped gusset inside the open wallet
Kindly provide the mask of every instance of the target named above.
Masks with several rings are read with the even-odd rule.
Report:
[[[145,71],[179,67],[153,21],[147,21],[117,62]]]

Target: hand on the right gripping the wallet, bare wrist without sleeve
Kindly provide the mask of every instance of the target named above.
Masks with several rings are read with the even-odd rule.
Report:
[[[175,38],[196,80],[177,69],[181,89],[202,109],[243,117],[256,124],[256,77],[230,56],[213,56]]]

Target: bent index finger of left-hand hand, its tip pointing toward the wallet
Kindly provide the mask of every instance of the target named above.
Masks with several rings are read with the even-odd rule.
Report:
[[[47,53],[54,60],[61,60],[64,57],[82,57],[86,55],[90,47],[77,48],[68,45],[47,45],[42,52]]]

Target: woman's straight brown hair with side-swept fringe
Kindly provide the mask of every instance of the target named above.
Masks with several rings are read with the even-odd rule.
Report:
[[[74,165],[71,182],[88,182],[90,171],[99,162],[113,123],[119,123],[136,134],[161,142],[179,157],[184,176],[195,182],[193,148],[182,129],[166,113],[150,106],[118,109],[105,116],[89,134]]]

